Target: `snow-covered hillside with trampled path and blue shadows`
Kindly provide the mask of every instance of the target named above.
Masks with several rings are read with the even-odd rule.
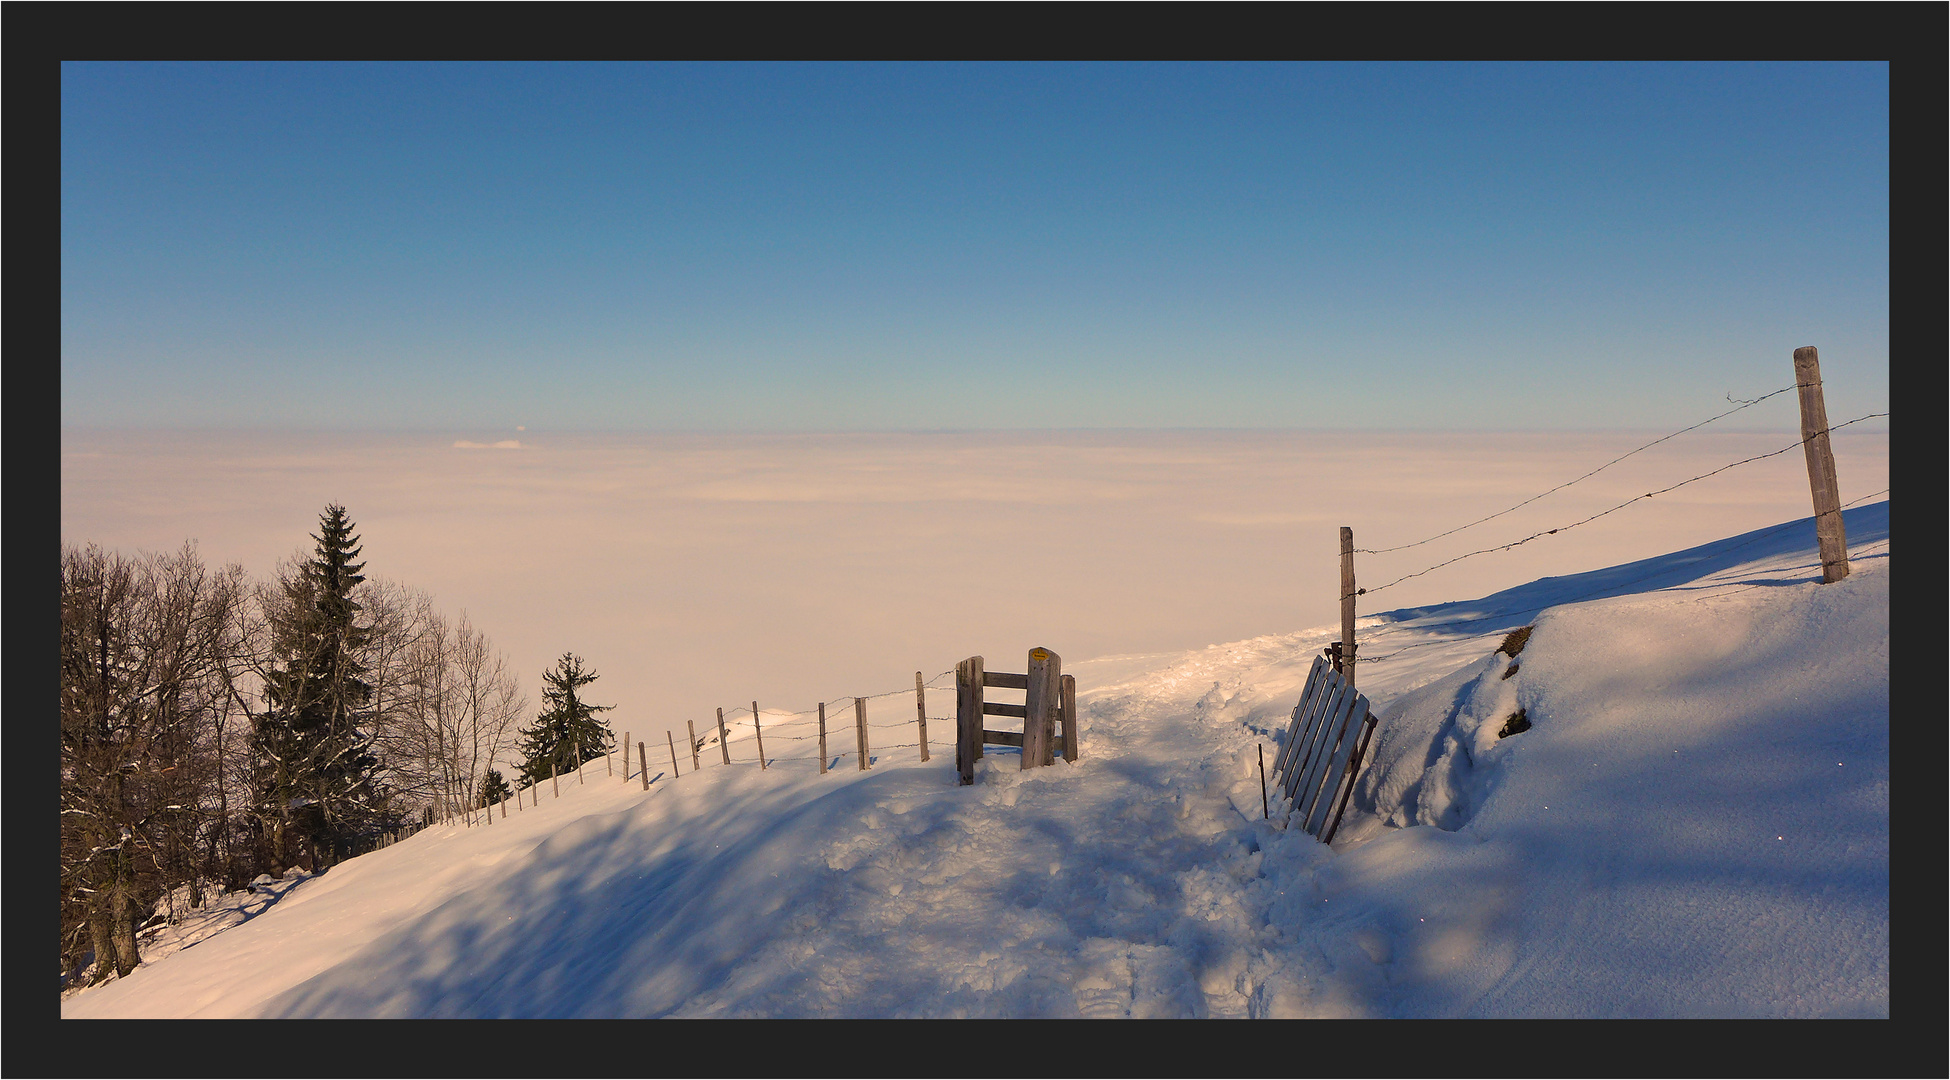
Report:
[[[729,768],[591,764],[62,1016],[1888,1016],[1888,503],[1845,519],[1835,585],[1802,521],[1363,618],[1332,850],[1262,819],[1256,756],[1316,628],[1071,663],[1080,760],[973,788],[952,723],[821,776],[809,715],[764,715],[768,770],[747,715]]]

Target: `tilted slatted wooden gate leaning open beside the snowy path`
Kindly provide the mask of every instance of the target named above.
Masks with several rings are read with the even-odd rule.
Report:
[[[1334,840],[1373,735],[1375,714],[1367,698],[1353,690],[1340,665],[1314,657],[1301,702],[1293,706],[1287,743],[1273,758],[1273,778],[1291,801],[1289,825],[1297,817],[1303,832],[1322,844]]]

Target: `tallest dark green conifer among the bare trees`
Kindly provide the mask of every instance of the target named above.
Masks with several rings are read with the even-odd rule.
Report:
[[[372,752],[372,684],[359,661],[370,628],[359,622],[353,589],[365,581],[361,546],[345,507],[328,505],[310,561],[281,581],[271,614],[277,663],[265,675],[269,710],[257,717],[257,813],[271,827],[273,858],[291,862],[302,840],[314,869],[345,854],[355,838],[396,825],[386,813]]]

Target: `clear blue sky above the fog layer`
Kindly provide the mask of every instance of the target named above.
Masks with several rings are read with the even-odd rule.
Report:
[[[1841,421],[1888,407],[1888,86],[70,62],[60,417],[1663,429],[1817,345]]]

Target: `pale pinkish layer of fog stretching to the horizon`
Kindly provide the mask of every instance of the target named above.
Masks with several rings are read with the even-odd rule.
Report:
[[[343,503],[369,575],[466,610],[523,673],[564,651],[661,741],[714,708],[809,710],[981,653],[1164,653],[1338,620],[1338,526],[1390,548],[1502,511],[1659,433],[62,433],[60,532],[199,542],[267,577]],[[1796,441],[1695,433],[1457,536],[1357,559],[1379,587]],[[1888,435],[1837,433],[1843,499]],[[1482,597],[1808,517],[1790,450],[1361,598]],[[1106,669],[1108,671],[1108,669]],[[930,702],[930,714],[952,706]]]

